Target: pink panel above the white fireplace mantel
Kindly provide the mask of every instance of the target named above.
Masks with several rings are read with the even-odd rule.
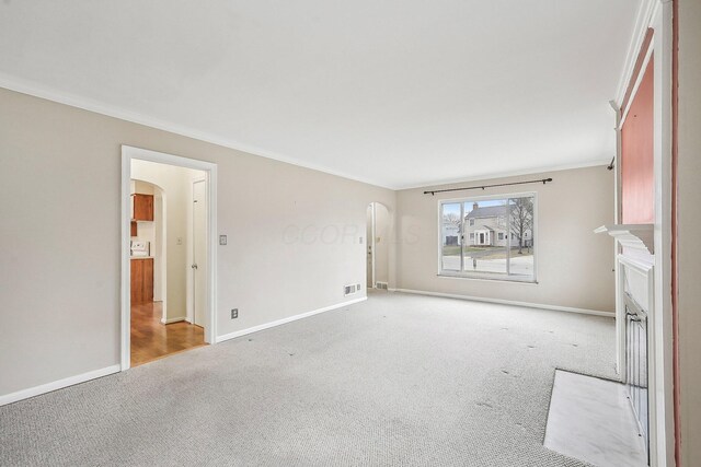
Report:
[[[651,57],[621,130],[621,211],[624,224],[654,222],[654,77]]]

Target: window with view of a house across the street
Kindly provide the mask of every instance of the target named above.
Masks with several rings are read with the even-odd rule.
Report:
[[[440,276],[536,282],[536,194],[440,201],[439,210]]]

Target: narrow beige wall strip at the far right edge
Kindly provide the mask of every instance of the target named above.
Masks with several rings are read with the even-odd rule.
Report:
[[[701,465],[701,2],[679,1],[678,313],[681,459]]]

